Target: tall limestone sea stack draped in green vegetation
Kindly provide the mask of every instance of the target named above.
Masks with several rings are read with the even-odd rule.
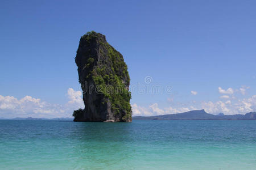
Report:
[[[131,122],[130,77],[123,56],[101,33],[81,37],[76,54],[85,109],[74,121]]]

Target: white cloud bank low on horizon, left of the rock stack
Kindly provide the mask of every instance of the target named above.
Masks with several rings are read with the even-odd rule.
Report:
[[[84,108],[82,92],[68,89],[67,104],[50,104],[31,96],[16,99],[14,96],[0,95],[0,117],[71,117],[73,110]]]

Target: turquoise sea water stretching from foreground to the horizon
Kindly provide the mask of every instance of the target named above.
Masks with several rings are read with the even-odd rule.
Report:
[[[256,121],[0,120],[0,169],[256,169]]]

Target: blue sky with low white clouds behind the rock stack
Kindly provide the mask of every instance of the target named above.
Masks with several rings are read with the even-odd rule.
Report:
[[[92,30],[123,54],[131,85],[172,87],[163,93],[133,90],[134,115],[255,111],[255,6],[255,1],[1,1],[0,117],[68,117],[81,107],[74,58],[80,37]]]

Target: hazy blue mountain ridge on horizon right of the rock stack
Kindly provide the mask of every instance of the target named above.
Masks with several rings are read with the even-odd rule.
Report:
[[[159,116],[134,116],[133,120],[256,120],[256,112],[246,114],[214,115],[203,110],[189,111],[176,114],[163,114]]]

